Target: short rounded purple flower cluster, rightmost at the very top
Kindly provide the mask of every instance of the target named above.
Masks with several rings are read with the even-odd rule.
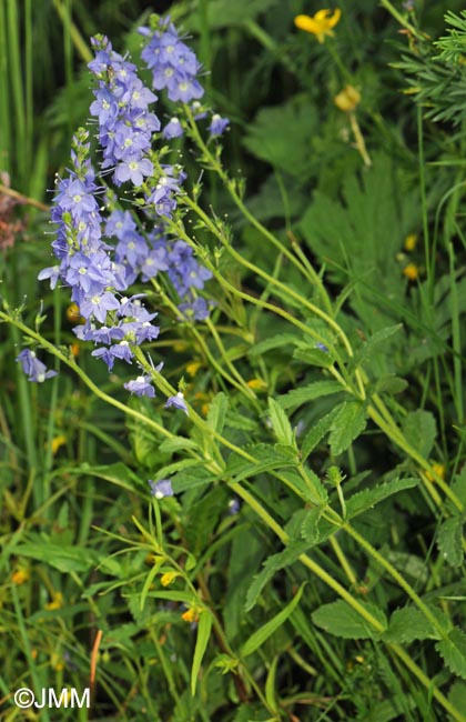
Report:
[[[201,70],[195,53],[181,39],[169,18],[158,18],[153,29],[139,28],[149,42],[141,58],[152,71],[152,87],[166,88],[170,100],[189,103],[202,98],[204,89],[196,76]],[[155,23],[154,23],[155,24]]]

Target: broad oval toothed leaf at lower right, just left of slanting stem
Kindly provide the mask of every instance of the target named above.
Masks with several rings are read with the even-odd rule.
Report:
[[[364,606],[372,616],[375,616],[381,624],[385,628],[387,626],[386,616],[378,606],[375,606],[375,604],[365,604],[363,602],[359,602],[359,604]],[[330,634],[342,636],[347,640],[377,639],[379,636],[379,632],[377,632],[369,622],[365,621],[356,610],[343,600],[320,606],[312,614],[312,621]]]

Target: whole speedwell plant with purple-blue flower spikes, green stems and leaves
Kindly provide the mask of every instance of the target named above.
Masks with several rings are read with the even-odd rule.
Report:
[[[323,271],[294,238],[275,235],[253,215],[242,179],[224,168],[221,140],[230,121],[204,101],[205,70],[188,39],[158,16],[140,33],[151,88],[136,61],[113,50],[108,38],[91,40],[90,121],[75,132],[69,168],[57,181],[53,261],[39,274],[78,307],[80,353],[88,350],[109,373],[128,377],[126,401],[100,388],[40,324],[30,329],[6,308],[1,319],[27,343],[17,360],[30,381],[42,383],[55,372],[37,353],[54,357],[126,415],[134,444],[142,433],[160,447],[151,458],[134,448],[133,468],[143,478],[134,491],[150,501],[150,512],[146,522],[134,521],[139,537],[128,548],[144,549],[151,568],[128,588],[138,594],[138,609],[152,605],[153,620],[164,603],[182,629],[193,625],[193,642],[183,648],[193,696],[209,694],[212,675],[222,672],[220,694],[245,710],[237,720],[247,713],[297,719],[292,710],[310,692],[305,656],[313,648],[322,654],[324,631],[353,640],[356,649],[365,645],[374,664],[374,649],[384,650],[386,676],[409,679],[440,715],[465,720],[444,689],[466,676],[464,632],[447,606],[419,594],[395,554],[378,549],[354,521],[392,497],[411,494],[428,504],[443,542],[455,527],[464,549],[463,477],[446,483],[397,421],[393,388],[378,383],[367,362],[397,328],[363,339],[352,333],[344,302],[332,301]],[[180,143],[196,156],[193,178],[178,154]],[[242,248],[223,210],[205,201],[204,171],[254,230],[263,263]],[[282,280],[284,265],[291,282]],[[170,343],[160,343],[163,338]],[[174,361],[180,342],[195,351],[189,381]],[[274,370],[271,352],[284,354]],[[366,429],[398,455],[389,473],[369,483],[351,473],[352,463],[350,473],[342,471]],[[386,602],[393,588],[396,605]],[[429,640],[432,674],[412,653],[418,640]],[[185,690],[154,644],[156,673],[168,680],[171,703],[184,709]],[[288,656],[300,670],[294,701],[281,693]]]

